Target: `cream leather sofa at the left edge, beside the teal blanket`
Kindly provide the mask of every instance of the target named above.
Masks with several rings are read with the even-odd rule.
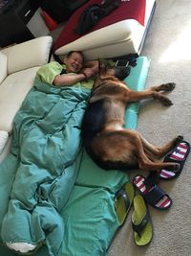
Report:
[[[0,162],[10,150],[12,121],[32,88],[40,65],[50,58],[53,38],[49,35],[0,51]]]

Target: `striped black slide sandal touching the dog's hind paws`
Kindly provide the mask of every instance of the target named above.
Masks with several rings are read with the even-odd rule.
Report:
[[[178,171],[168,171],[168,170],[160,170],[159,171],[159,178],[161,179],[172,179],[178,177],[183,169],[183,165],[187,159],[187,156],[190,152],[190,144],[187,141],[180,141],[180,143],[175,147],[173,151],[168,153],[165,157],[163,162],[175,162],[180,164],[180,168]]]

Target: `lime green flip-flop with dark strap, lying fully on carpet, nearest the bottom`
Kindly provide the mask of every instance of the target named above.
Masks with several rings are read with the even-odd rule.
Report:
[[[138,245],[149,244],[153,237],[153,225],[148,208],[142,196],[134,198],[134,212],[132,214],[132,228],[134,239]]]

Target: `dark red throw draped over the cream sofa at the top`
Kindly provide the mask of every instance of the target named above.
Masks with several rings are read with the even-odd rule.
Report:
[[[64,29],[62,30],[61,34],[56,39],[55,43],[53,44],[53,51],[56,49],[70,43],[74,42],[74,40],[78,39],[83,35],[77,35],[75,33],[75,28],[77,27],[78,20],[82,12],[84,10],[93,5],[93,4],[100,4],[101,0],[90,0],[88,3],[83,5],[81,8],[76,10],[68,22],[64,25]],[[109,15],[100,19],[96,25],[88,32],[96,31],[100,28],[109,26],[114,24],[118,21],[124,19],[136,19],[138,22],[143,26],[144,25],[144,16],[145,16],[145,0],[134,0],[134,1],[119,1],[119,7],[111,12]],[[85,33],[84,35],[88,34]],[[115,35],[115,31],[114,31]]]

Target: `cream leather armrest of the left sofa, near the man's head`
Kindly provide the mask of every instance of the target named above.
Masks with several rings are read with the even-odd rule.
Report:
[[[52,36],[46,35],[3,49],[1,52],[8,60],[8,74],[46,64],[52,44]]]

